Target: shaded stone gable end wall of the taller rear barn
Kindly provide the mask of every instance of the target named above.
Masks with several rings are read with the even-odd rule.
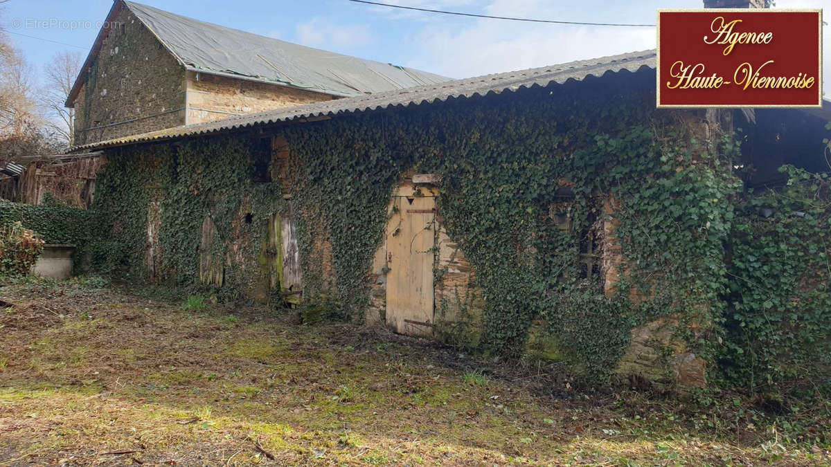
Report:
[[[112,23],[79,78],[76,145],[184,125],[184,67],[126,9]]]

